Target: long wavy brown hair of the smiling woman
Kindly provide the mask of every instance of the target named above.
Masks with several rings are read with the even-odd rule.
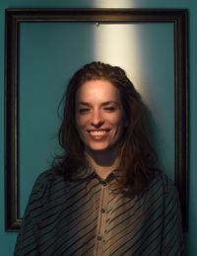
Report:
[[[121,177],[118,189],[137,194],[149,186],[160,170],[147,129],[146,107],[125,71],[118,66],[94,61],[78,70],[69,81],[63,98],[63,120],[58,133],[64,153],[55,157],[52,168],[67,179],[72,179],[79,168],[87,166],[84,144],[75,124],[75,96],[78,88],[91,80],[107,80],[120,92],[127,127],[119,151]]]

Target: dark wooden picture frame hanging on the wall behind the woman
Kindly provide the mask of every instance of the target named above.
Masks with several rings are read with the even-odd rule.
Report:
[[[19,217],[18,90],[19,25],[29,22],[172,23],[174,28],[174,182],[179,191],[184,230],[188,230],[188,40],[187,10],[8,9],[5,47],[6,230],[17,231]]]

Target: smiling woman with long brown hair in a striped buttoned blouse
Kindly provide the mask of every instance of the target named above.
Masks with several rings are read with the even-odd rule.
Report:
[[[183,255],[177,191],[124,70],[87,64],[64,99],[64,154],[33,186],[15,255]]]

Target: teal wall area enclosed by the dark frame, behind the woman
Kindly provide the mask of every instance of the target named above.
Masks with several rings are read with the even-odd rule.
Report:
[[[93,60],[126,70],[150,110],[161,168],[173,179],[172,23],[23,23],[20,35],[20,215],[35,177],[59,150],[56,110],[65,84]]]

